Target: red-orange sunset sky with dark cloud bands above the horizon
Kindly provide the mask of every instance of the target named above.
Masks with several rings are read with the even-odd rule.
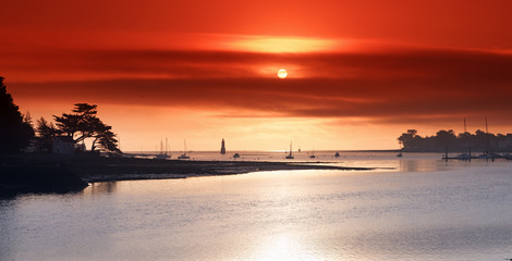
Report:
[[[398,149],[512,133],[512,1],[7,0],[0,76],[33,119],[98,104],[121,149]],[[277,76],[280,69],[288,77]]]

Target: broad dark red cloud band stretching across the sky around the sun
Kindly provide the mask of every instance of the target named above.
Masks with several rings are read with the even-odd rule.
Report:
[[[4,61],[1,65],[7,64]],[[496,52],[89,50],[26,55],[15,64],[12,70],[25,71],[26,75],[58,71],[63,76],[81,72],[93,76],[74,82],[19,79],[9,85],[16,96],[27,99],[236,109],[245,116],[251,115],[246,111],[272,116],[357,116],[385,122],[487,114],[510,124],[507,121],[512,116],[512,55]],[[310,75],[320,72],[322,77],[283,80],[261,77],[254,71],[268,64],[294,64]],[[111,75],[112,79],[95,79],[95,75]],[[137,77],[123,78],[127,75]]]

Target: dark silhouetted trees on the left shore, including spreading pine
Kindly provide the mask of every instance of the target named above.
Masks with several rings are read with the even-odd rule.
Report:
[[[97,105],[76,103],[71,113],[53,115],[52,122],[41,117],[34,123],[29,113],[22,114],[0,77],[0,153],[52,152],[53,140],[68,137],[77,152],[85,152],[90,140],[92,152],[121,152],[112,127],[97,116]]]

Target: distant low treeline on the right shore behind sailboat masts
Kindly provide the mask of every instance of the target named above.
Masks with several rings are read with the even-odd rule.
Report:
[[[398,138],[404,151],[417,152],[510,152],[512,151],[512,134],[489,134],[480,129],[475,134],[460,133],[453,129],[439,130],[435,136],[422,137],[416,129],[407,129]]]

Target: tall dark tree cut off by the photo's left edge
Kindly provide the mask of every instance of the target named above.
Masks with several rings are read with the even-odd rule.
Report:
[[[23,116],[0,77],[0,152],[17,152],[27,148],[34,138],[29,115]]]

